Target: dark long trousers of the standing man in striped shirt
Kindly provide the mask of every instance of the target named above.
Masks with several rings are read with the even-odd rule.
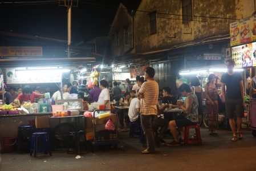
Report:
[[[153,121],[156,115],[140,115],[141,125],[147,139],[147,149],[155,152],[155,136],[153,133]]]

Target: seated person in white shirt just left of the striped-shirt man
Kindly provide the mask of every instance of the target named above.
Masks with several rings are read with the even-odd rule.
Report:
[[[129,105],[128,116],[131,122],[140,123],[140,100],[136,96],[132,96],[131,103]]]

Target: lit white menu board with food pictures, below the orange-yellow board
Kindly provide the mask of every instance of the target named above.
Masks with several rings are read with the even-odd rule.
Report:
[[[256,43],[247,43],[232,47],[232,59],[235,68],[256,66]]]

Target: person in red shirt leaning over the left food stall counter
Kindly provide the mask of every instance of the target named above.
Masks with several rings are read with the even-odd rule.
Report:
[[[44,97],[44,94],[36,93],[32,91],[32,88],[30,86],[25,86],[22,89],[22,93],[16,97],[14,101],[19,100],[19,103],[22,104],[23,101],[30,101],[31,103],[35,102],[36,98]],[[17,102],[15,102],[17,103]]]

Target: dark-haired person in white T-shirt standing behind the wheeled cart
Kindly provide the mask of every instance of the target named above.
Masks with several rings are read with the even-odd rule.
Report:
[[[100,81],[100,95],[99,95],[99,100],[97,101],[99,104],[105,105],[105,109],[110,109],[110,93],[107,89],[108,87],[108,82],[106,80],[101,80]]]

